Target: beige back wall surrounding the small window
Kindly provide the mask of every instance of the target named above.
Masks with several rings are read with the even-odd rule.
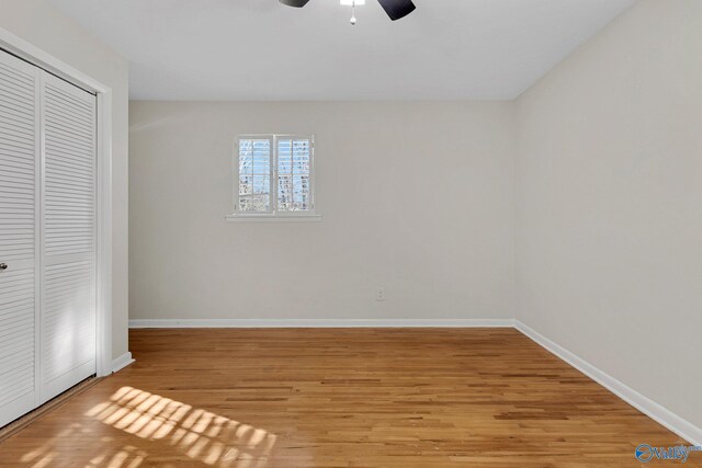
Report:
[[[133,102],[129,125],[132,319],[513,317],[511,104]],[[321,222],[225,221],[250,133],[316,134]]]

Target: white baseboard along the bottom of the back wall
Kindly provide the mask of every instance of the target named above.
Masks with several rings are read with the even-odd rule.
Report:
[[[513,319],[146,319],[129,328],[512,328]]]

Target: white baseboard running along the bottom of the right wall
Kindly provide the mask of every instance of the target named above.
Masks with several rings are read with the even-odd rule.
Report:
[[[636,408],[642,413],[646,414],[648,418],[675,432],[680,437],[688,441],[690,444],[702,445],[702,429],[695,426],[689,421],[686,421],[684,419],[680,418],[672,411],[661,407],[649,398],[644,397],[633,388],[626,386],[611,375],[605,374],[604,372],[569,352],[559,344],[554,343],[553,341],[548,340],[546,336],[540,334],[535,330],[529,328],[521,321],[516,320],[514,328],[540,344],[546,351],[550,351],[557,357],[570,364],[573,367],[580,370],[582,374],[587,375],[592,380],[597,381],[598,384],[610,390],[612,393],[616,395],[619,398],[626,401],[629,404]],[[645,442],[646,441],[642,441],[642,443]]]

